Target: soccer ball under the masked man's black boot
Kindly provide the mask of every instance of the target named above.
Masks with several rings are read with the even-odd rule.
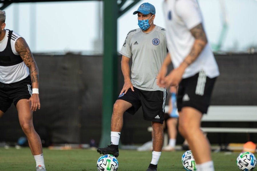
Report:
[[[119,162],[117,158],[111,154],[105,154],[97,160],[98,171],[117,171]]]

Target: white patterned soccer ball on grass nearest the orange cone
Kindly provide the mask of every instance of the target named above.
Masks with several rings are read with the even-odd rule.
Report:
[[[242,152],[236,158],[236,164],[240,170],[254,170],[256,166],[256,157],[251,152]]]

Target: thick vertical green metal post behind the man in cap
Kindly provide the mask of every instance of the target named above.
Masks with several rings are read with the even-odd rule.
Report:
[[[111,116],[117,98],[118,55],[117,55],[117,0],[104,1],[104,54],[103,54],[103,113],[102,135],[99,146],[110,144]]]

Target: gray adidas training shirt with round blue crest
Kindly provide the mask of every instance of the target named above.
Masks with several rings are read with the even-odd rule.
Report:
[[[155,28],[145,33],[140,28],[131,30],[120,53],[132,58],[131,83],[134,87],[147,91],[166,91],[156,84],[162,62],[167,55],[166,31]]]

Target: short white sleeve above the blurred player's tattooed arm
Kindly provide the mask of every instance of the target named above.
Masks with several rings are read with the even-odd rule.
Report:
[[[202,23],[201,12],[195,0],[179,0],[175,8],[189,30]]]

